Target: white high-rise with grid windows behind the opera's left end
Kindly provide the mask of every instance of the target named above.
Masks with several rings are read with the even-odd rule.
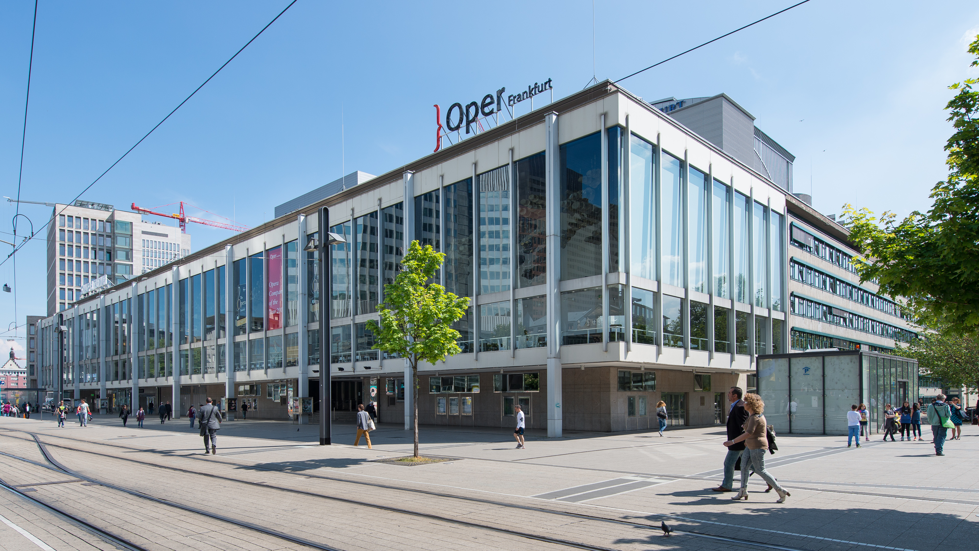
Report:
[[[144,222],[138,212],[81,200],[56,205],[48,224],[48,315],[187,253],[189,235]]]

